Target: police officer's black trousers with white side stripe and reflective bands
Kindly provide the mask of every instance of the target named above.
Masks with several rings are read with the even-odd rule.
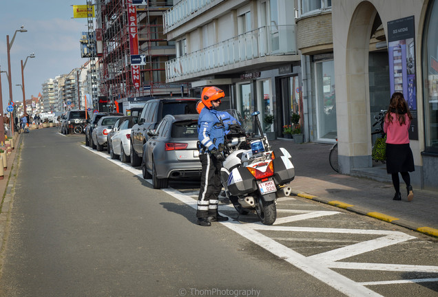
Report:
[[[222,190],[220,183],[220,168],[222,162],[218,161],[210,153],[199,155],[202,163],[201,184],[198,197],[198,210],[196,217],[214,217],[218,213],[218,196]]]

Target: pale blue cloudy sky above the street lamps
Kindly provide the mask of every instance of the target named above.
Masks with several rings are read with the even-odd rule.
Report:
[[[38,96],[48,78],[68,74],[87,62],[81,58],[79,39],[87,31],[87,19],[72,19],[72,5],[85,5],[85,0],[0,0],[0,67],[8,71],[6,36],[12,41],[15,30],[24,25],[28,32],[17,32],[10,50],[12,99],[23,102],[21,60],[28,58],[24,69],[25,98]],[[9,85],[1,74],[3,111],[9,104]]]

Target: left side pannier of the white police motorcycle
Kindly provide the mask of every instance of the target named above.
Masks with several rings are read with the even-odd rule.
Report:
[[[238,167],[229,174],[228,190],[233,196],[241,196],[258,189],[254,176],[246,167]]]

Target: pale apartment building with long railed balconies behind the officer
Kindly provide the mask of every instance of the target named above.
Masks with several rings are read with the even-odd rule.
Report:
[[[282,136],[291,113],[304,116],[300,54],[296,42],[298,1],[175,1],[165,12],[165,34],[176,43],[176,58],[166,63],[169,83],[191,83],[191,96],[216,85],[225,91],[224,107],[244,120],[260,111],[274,115],[264,132]]]

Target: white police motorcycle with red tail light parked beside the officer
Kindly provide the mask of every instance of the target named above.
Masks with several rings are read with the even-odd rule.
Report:
[[[238,111],[227,112],[243,122]],[[277,219],[278,190],[294,179],[295,168],[285,148],[269,146],[259,114],[251,114],[258,133],[247,133],[238,123],[229,126],[220,178],[225,195],[239,214],[255,212],[264,225],[272,225]]]

